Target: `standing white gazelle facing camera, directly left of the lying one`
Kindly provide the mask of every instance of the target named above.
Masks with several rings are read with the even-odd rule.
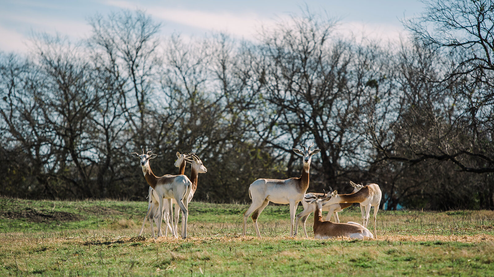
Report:
[[[249,197],[252,199],[252,204],[244,213],[244,232],[246,235],[247,217],[252,214],[252,222],[254,225],[257,237],[261,237],[259,227],[257,226],[257,218],[262,210],[268,205],[269,201],[278,204],[290,205],[290,236],[293,236],[293,220],[298,202],[302,201],[307,188],[309,187],[309,168],[311,158],[314,154],[319,153],[321,149],[310,150],[314,143],[305,149],[305,146],[300,144],[304,150],[293,148],[293,152],[302,156],[302,175],[298,178],[290,178],[286,180],[278,179],[257,179],[248,189]]]

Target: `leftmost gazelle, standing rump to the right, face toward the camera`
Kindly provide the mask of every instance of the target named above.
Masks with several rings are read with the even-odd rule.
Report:
[[[142,150],[142,155],[137,153],[130,153],[133,157],[139,158],[141,160],[142,173],[144,174],[144,178],[148,182],[149,186],[156,191],[157,200],[159,203],[158,210],[163,211],[163,199],[167,199],[168,202],[168,210],[170,213],[170,221],[171,225],[173,225],[173,219],[171,217],[171,199],[175,199],[175,201],[180,206],[182,210],[183,217],[183,228],[182,228],[182,238],[187,237],[187,216],[188,211],[187,207],[183,203],[183,199],[190,193],[192,188],[192,182],[185,175],[163,175],[161,177],[157,177],[154,175],[151,167],[149,166],[149,160],[152,158],[156,158],[158,155],[151,154],[148,155],[151,151],[148,151],[144,154],[144,150]],[[162,236],[161,232],[161,222],[163,219],[163,213],[160,212],[158,219],[158,236]],[[167,221],[166,221],[167,222]],[[174,237],[178,237],[176,232],[173,231],[172,227],[166,223],[166,226],[172,230],[172,234]]]

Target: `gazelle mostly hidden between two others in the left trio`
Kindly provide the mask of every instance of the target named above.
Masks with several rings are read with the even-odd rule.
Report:
[[[188,159],[189,157],[187,154],[180,154],[179,152],[176,153],[176,156],[177,156],[177,160],[175,161],[175,166],[179,168],[180,174],[184,175],[186,162],[190,161]],[[146,216],[144,217],[144,222],[142,223],[141,232],[139,232],[139,236],[142,234],[142,231],[144,230],[144,225],[146,224],[146,219],[149,218],[149,223],[151,224],[151,232],[152,232],[153,237],[154,237],[153,221],[154,221],[154,224],[156,224],[156,226],[158,226],[159,203],[158,203],[158,195],[156,194],[156,191],[152,187],[149,187],[148,199],[149,199],[148,211],[146,213]],[[172,199],[172,201],[173,201],[173,199]],[[176,202],[174,202],[174,203],[176,203]],[[169,210],[168,210],[168,201],[163,202],[163,210],[161,212],[162,213],[165,212],[165,214],[163,215],[165,217],[165,221],[169,220],[170,214],[169,214]],[[177,206],[175,213],[178,213],[178,206]],[[175,232],[176,232],[177,226],[175,225],[174,227],[175,227]],[[171,229],[170,229],[170,231],[173,234],[173,231]],[[168,234],[168,228],[165,229],[165,237],[167,234]]]

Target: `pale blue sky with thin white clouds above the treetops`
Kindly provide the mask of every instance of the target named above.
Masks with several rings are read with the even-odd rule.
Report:
[[[406,35],[400,19],[419,15],[418,0],[0,0],[0,51],[26,51],[32,32],[89,36],[87,18],[122,9],[141,9],[163,23],[164,35],[202,36],[222,31],[254,40],[259,26],[300,14],[325,11],[340,19],[338,32],[365,33],[372,38],[397,40]]]

